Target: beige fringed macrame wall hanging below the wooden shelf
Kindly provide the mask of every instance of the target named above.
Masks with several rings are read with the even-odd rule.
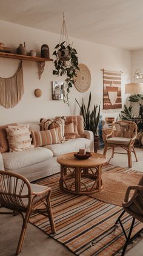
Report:
[[[8,78],[0,77],[0,105],[13,108],[24,94],[22,61],[15,75]]]

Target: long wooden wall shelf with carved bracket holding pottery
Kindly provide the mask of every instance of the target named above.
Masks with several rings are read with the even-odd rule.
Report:
[[[19,55],[19,54],[8,54],[6,52],[0,52],[0,57],[2,58],[14,58],[18,60],[30,60],[38,62],[38,70],[39,70],[39,79],[41,78],[42,72],[44,71],[45,61],[53,61],[52,58],[40,58],[40,57],[32,57],[27,55]]]

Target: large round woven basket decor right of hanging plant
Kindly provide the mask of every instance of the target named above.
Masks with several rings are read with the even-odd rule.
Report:
[[[75,77],[75,88],[79,92],[86,92],[91,84],[90,70],[85,64],[79,64],[78,66],[80,70],[76,71],[77,77]]]

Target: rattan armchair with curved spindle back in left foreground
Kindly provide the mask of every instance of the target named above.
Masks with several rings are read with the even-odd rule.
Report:
[[[52,234],[55,234],[52,207],[50,204],[51,188],[30,182],[23,176],[8,171],[0,171],[0,206],[12,212],[1,214],[21,214],[23,219],[16,255],[21,252],[27,224],[32,213],[48,216]],[[25,214],[24,214],[25,213]]]

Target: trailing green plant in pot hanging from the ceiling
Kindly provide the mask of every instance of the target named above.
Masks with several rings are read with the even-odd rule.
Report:
[[[53,75],[67,75],[65,79],[65,87],[62,92],[64,95],[64,102],[69,106],[68,94],[70,93],[70,88],[74,85],[74,78],[77,77],[76,70],[79,70],[78,67],[78,57],[76,49],[74,49],[71,44],[66,46],[66,41],[57,44],[55,47],[53,55],[56,56],[54,61],[55,70],[53,70]]]

